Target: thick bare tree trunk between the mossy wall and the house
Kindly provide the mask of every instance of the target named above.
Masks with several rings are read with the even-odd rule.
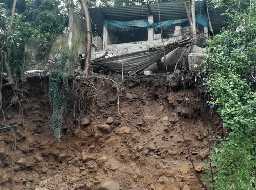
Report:
[[[85,0],[79,0],[83,14],[85,15],[85,22],[86,22],[86,49],[85,49],[85,65],[83,73],[85,75],[89,74],[90,65],[91,65],[91,54],[92,54],[92,26],[90,21],[90,14],[88,10],[88,6]]]

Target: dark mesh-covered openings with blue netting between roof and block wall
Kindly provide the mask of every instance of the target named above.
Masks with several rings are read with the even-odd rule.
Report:
[[[196,24],[198,32],[203,31],[203,27],[209,25],[206,15],[196,15]],[[133,20],[128,22],[121,22],[116,20],[105,20],[104,24],[108,30],[108,45],[139,42],[148,40],[148,29],[154,30],[154,39],[161,39],[160,23],[149,23],[147,20]],[[180,26],[186,33],[189,32],[188,19],[175,19],[161,22],[163,30],[163,38],[170,38],[175,36],[175,27]],[[184,34],[186,35],[186,34]]]

